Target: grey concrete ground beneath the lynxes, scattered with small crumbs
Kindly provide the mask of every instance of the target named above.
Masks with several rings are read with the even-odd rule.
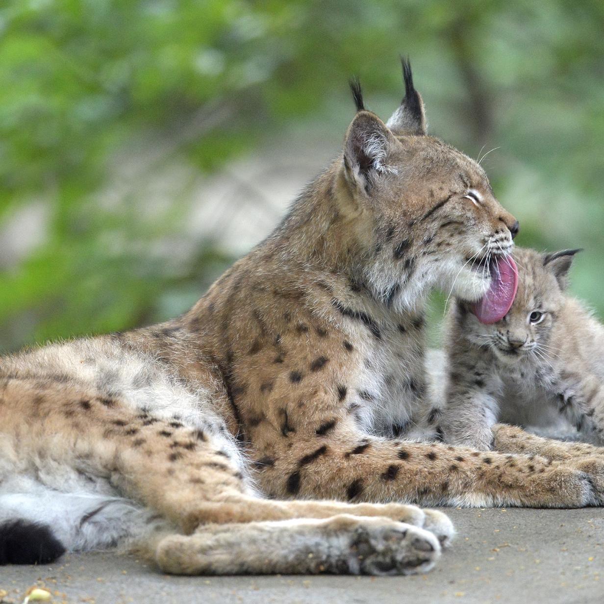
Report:
[[[46,586],[53,602],[364,604],[604,602],[604,510],[448,510],[457,538],[431,573],[411,577],[173,577],[133,557],[78,554],[1,567],[0,604]]]

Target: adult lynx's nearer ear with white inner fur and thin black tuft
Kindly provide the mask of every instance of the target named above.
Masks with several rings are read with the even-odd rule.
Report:
[[[358,113],[352,120],[344,142],[344,173],[353,187],[369,194],[376,179],[386,173],[396,173],[388,165],[388,156],[396,138],[377,115],[365,111],[358,82],[351,82]]]

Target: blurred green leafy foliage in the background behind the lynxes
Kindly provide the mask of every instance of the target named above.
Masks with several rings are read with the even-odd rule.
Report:
[[[0,4],[0,230],[48,210],[39,244],[0,259],[0,349],[185,310],[232,259],[211,241],[178,266],[159,254],[193,200],[182,182],[147,207],[149,176],[210,173],[293,126],[330,133],[336,152],[347,79],[388,117],[399,52],[431,132],[472,156],[498,147],[484,165],[519,244],[586,248],[573,287],[604,312],[602,31],[601,0]]]

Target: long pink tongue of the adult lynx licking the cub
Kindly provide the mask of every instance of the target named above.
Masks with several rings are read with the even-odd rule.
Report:
[[[480,323],[497,323],[507,315],[518,289],[518,268],[512,256],[498,258],[490,265],[491,284],[482,300],[474,304]]]

